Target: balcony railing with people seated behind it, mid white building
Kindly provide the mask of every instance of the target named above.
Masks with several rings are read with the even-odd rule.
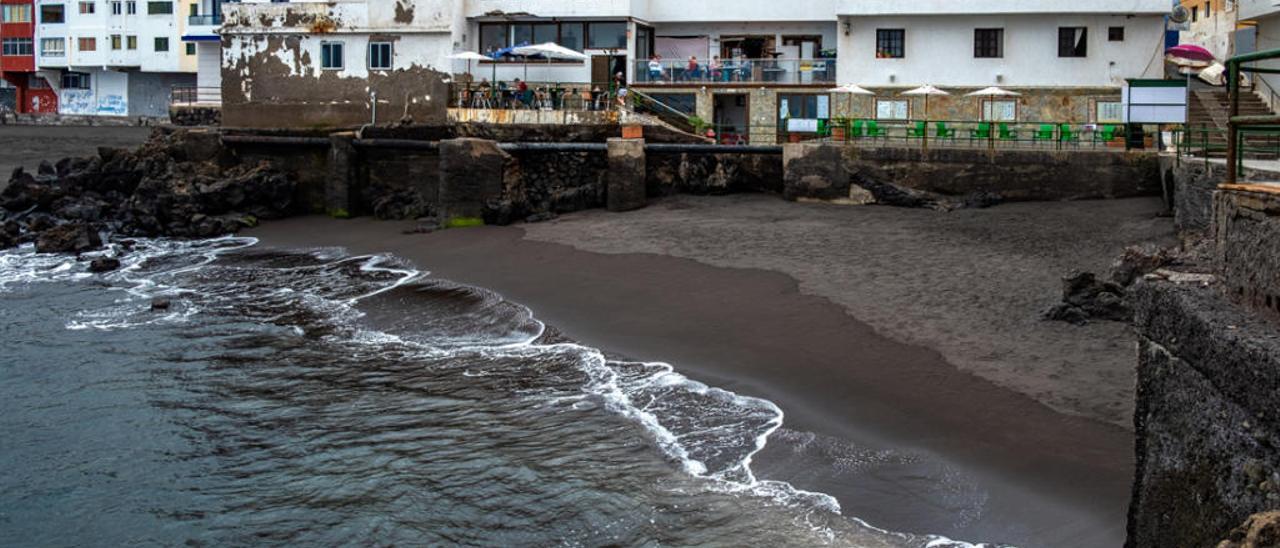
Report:
[[[763,83],[777,86],[829,85],[836,81],[835,59],[636,60],[635,83]]]

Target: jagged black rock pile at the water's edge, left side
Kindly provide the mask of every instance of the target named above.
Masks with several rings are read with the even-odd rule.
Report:
[[[0,192],[0,248],[92,251],[118,237],[212,237],[292,211],[294,182],[268,161],[242,163],[216,133],[157,128],[138,149],[14,169]]]

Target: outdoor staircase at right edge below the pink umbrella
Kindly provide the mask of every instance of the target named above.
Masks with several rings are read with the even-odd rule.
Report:
[[[1226,127],[1231,108],[1230,95],[1225,90],[1194,90],[1192,91],[1190,113],[1188,113],[1187,128],[1190,134],[1193,150],[1208,147],[1208,155],[1216,157],[1226,156]],[[1262,99],[1253,91],[1240,91],[1240,115],[1270,115]],[[1206,132],[1207,129],[1207,132]],[[1262,150],[1270,149],[1270,150]],[[1280,150],[1280,137],[1249,136],[1245,157],[1275,159],[1276,150]]]

